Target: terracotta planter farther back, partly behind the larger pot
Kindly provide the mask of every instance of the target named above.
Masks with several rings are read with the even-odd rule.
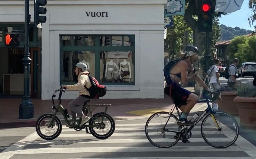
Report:
[[[217,98],[218,110],[230,113],[234,116],[238,116],[238,108],[233,102],[234,98],[237,96],[237,91],[223,91],[221,93],[221,98]]]

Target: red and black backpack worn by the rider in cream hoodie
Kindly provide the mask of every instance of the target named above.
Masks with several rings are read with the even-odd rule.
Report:
[[[107,88],[105,87],[105,85],[100,85],[99,82],[94,77],[89,75],[90,73],[83,73],[83,74],[86,74],[89,77],[90,82],[92,84],[90,88],[87,88],[86,85],[84,85],[86,90],[89,91],[90,97],[92,99],[99,99],[100,97],[103,97],[107,93]]]

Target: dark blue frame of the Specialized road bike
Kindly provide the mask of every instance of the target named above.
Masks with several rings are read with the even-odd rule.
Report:
[[[205,103],[205,102],[206,102],[207,105],[208,105],[208,107],[207,107],[207,108],[204,110],[204,112],[193,122],[194,125],[187,126],[187,127],[189,127],[188,129],[189,129],[190,131],[195,127],[195,125],[198,124],[198,122],[200,122],[200,120],[201,120],[207,113],[211,113],[211,115],[212,115],[212,117],[213,117],[215,123],[217,124],[216,119],[215,119],[215,117],[213,116],[213,114],[215,114],[215,113],[214,113],[214,111],[211,109],[210,102],[212,103],[212,102],[214,102],[214,101],[217,99],[217,94],[219,94],[219,92],[213,93],[213,94],[216,94],[216,96],[214,96],[213,98],[210,98],[210,99],[207,98],[208,95],[210,95],[210,94],[208,94],[208,95],[206,96],[206,99],[198,100],[197,103]],[[180,118],[180,112],[179,112],[178,107],[177,107],[176,105],[174,105],[174,108],[176,108],[177,113],[178,113],[178,116],[179,116],[179,118]],[[171,109],[169,115],[170,115],[170,114],[173,114],[174,108]],[[170,117],[171,117],[171,116],[170,116]],[[170,117],[169,117],[169,119],[170,119]],[[167,120],[166,124],[164,125],[164,129],[165,129],[165,127],[166,127],[166,125],[167,125],[169,119]],[[182,126],[184,127],[184,126],[186,126],[186,125],[182,125]],[[218,124],[217,124],[217,127],[219,128],[219,125],[218,125]],[[166,130],[166,131],[167,131],[167,132],[180,133],[180,131],[168,131],[168,130]]]

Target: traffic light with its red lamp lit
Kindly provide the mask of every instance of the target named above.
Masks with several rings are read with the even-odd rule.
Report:
[[[212,32],[212,1],[198,0],[198,32]]]

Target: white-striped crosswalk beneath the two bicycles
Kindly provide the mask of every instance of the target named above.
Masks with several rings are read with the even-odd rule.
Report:
[[[198,123],[192,129],[190,143],[184,144],[179,141],[177,145],[169,149],[160,149],[149,142],[145,134],[146,122],[131,121],[126,123],[125,121],[116,122],[114,133],[108,139],[103,140],[93,137],[92,134],[86,134],[84,130],[75,131],[73,128],[70,129],[63,125],[61,134],[55,140],[42,140],[38,136],[37,139],[33,138],[28,143],[21,143],[24,145],[21,149],[17,145],[17,148],[12,149],[12,154],[16,155],[14,158],[34,157],[39,159],[44,159],[43,156],[51,154],[56,154],[53,158],[60,159],[252,159],[248,154],[251,153],[253,155],[253,152],[250,152],[249,149],[247,149],[247,152],[243,150],[243,148],[246,148],[242,144],[248,144],[248,141],[240,136],[235,144],[225,149],[216,149],[208,145],[201,137],[201,123]],[[163,123],[161,124],[163,125]],[[156,126],[161,128],[161,125]],[[230,142],[227,135],[232,133],[226,132],[223,134],[222,132],[220,135],[216,131],[217,129],[211,131],[211,129],[215,128],[214,126],[214,123],[208,123],[207,126],[204,125],[204,134],[207,140],[219,144]],[[167,125],[167,128],[171,130],[175,130],[177,127],[176,122],[168,123]],[[150,125],[148,130],[151,140],[160,145],[167,145],[167,143],[171,144],[176,141],[173,139],[174,133],[166,132],[166,138],[163,138],[159,134],[160,132],[157,132],[158,129],[155,126]],[[225,131],[228,130],[226,129]],[[255,147],[251,146],[250,149],[254,150]]]

